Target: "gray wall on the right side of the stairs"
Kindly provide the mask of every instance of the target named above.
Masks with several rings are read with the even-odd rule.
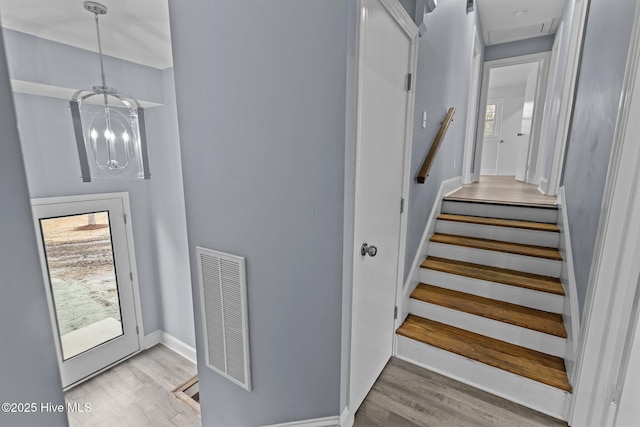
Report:
[[[636,2],[591,0],[562,184],[580,312],[618,116]]]

